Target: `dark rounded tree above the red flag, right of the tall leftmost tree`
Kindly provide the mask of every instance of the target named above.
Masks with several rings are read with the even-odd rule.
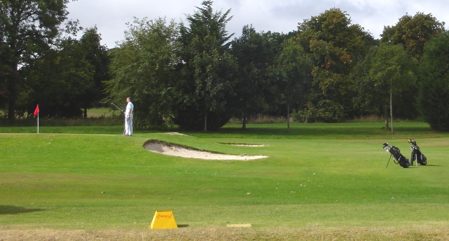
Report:
[[[27,76],[25,105],[31,116],[36,104],[45,118],[80,118],[83,98],[94,88],[93,66],[84,59],[81,43],[66,39],[23,67]]]

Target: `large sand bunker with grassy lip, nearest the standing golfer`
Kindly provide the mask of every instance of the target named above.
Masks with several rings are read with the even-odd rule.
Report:
[[[268,156],[248,156],[248,155],[226,155],[226,154],[217,154],[211,153],[207,151],[199,151],[192,150],[181,146],[169,145],[166,143],[160,142],[148,142],[144,145],[144,147],[152,152],[161,153],[164,155],[170,156],[180,156],[187,158],[197,158],[197,159],[205,159],[205,160],[254,160],[260,158],[266,158]]]

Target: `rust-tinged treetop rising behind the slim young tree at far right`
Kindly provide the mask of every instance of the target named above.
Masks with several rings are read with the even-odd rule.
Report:
[[[381,42],[401,44],[420,59],[423,56],[424,45],[433,36],[444,30],[444,22],[439,22],[432,14],[417,12],[415,16],[404,15],[395,26],[385,26],[381,34]]]

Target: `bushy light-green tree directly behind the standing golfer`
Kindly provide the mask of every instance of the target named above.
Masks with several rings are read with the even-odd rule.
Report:
[[[111,50],[111,75],[107,93],[114,102],[131,96],[137,126],[163,124],[171,114],[173,80],[179,62],[176,55],[177,24],[165,18],[134,19],[125,40]]]

